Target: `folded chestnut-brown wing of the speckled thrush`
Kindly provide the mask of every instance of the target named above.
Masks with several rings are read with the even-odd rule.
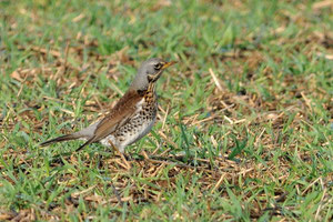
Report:
[[[110,133],[114,132],[119,127],[127,123],[137,112],[137,104],[143,97],[137,91],[127,92],[110,111],[110,113],[102,119],[94,131],[94,137],[91,142],[97,142]]]

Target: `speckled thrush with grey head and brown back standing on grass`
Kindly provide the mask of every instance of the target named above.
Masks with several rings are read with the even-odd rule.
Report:
[[[125,147],[151,131],[158,111],[157,81],[163,70],[174,63],[158,58],[144,61],[129,90],[103,119],[78,132],[46,141],[41,147],[80,139],[85,142],[77,151],[88,144],[100,142],[123,153]]]

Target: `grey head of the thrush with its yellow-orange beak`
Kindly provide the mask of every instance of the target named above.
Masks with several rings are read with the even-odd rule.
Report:
[[[131,84],[131,89],[147,90],[149,83],[157,82],[163,70],[174,63],[174,61],[165,62],[159,58],[152,58],[144,61],[138,70],[138,73]]]

